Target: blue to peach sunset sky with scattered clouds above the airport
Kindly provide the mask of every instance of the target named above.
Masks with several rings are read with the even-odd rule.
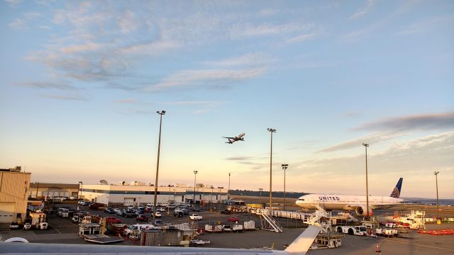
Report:
[[[0,2],[0,167],[32,181],[454,198],[453,1]],[[223,136],[245,132],[245,141]],[[193,171],[198,171],[194,176]]]

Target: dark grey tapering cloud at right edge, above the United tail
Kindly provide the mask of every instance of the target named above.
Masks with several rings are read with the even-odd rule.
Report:
[[[385,118],[360,125],[353,130],[440,130],[454,128],[454,111],[447,113],[427,113],[396,118]]]

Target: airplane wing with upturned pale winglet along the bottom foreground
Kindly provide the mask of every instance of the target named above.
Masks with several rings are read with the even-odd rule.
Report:
[[[309,226],[284,251],[109,244],[38,244],[27,243],[26,240],[25,242],[6,240],[0,243],[0,254],[304,255],[320,230],[321,227]]]

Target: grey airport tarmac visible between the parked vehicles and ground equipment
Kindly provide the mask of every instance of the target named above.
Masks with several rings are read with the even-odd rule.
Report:
[[[74,205],[75,206],[75,205]],[[87,208],[81,208],[87,210]],[[101,211],[90,210],[92,214],[106,215]],[[214,224],[221,220],[224,225],[229,225],[226,219],[231,215],[221,215],[219,212],[197,212],[204,217],[199,222],[199,228],[205,224]],[[392,215],[393,211],[381,211],[383,214]],[[148,214],[149,215],[149,214]],[[167,215],[162,212],[164,222],[187,221],[188,216],[183,218]],[[116,215],[109,215],[117,217]],[[255,215],[248,213],[239,213],[235,215],[240,222],[255,220],[256,227],[260,227],[260,220]],[[135,224],[135,218],[120,218],[124,223]],[[77,235],[78,227],[74,225],[70,218],[62,219],[56,215],[49,215],[49,229],[46,230],[28,230],[22,229],[10,230],[9,225],[0,225],[0,234],[3,240],[10,237],[23,237],[28,242],[37,243],[60,243],[60,244],[89,244]],[[443,223],[441,225],[426,224],[427,229],[454,229],[454,224]],[[266,230],[255,230],[243,233],[209,233],[201,235],[200,239],[208,240],[211,243],[205,247],[213,248],[243,248],[250,249],[253,247],[274,246],[277,250],[284,250],[284,245],[290,244],[296,239],[304,229],[301,228],[284,228],[283,233],[275,233]],[[100,245],[100,244],[92,244]],[[115,245],[138,245],[138,241],[125,240]],[[377,252],[377,246],[381,252]],[[411,254],[411,255],[438,255],[454,254],[454,235],[431,235],[419,234],[416,230],[409,230],[406,238],[387,238],[387,237],[360,237],[345,234],[342,239],[342,246],[337,249],[319,249],[309,250],[308,254]]]

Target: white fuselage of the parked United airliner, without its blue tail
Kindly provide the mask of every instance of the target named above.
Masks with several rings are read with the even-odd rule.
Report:
[[[369,196],[370,210],[380,205],[395,205],[400,202],[400,198]],[[314,205],[320,205],[325,210],[355,210],[358,206],[366,205],[366,196],[309,194],[298,198],[297,205],[305,209],[316,209]]]

